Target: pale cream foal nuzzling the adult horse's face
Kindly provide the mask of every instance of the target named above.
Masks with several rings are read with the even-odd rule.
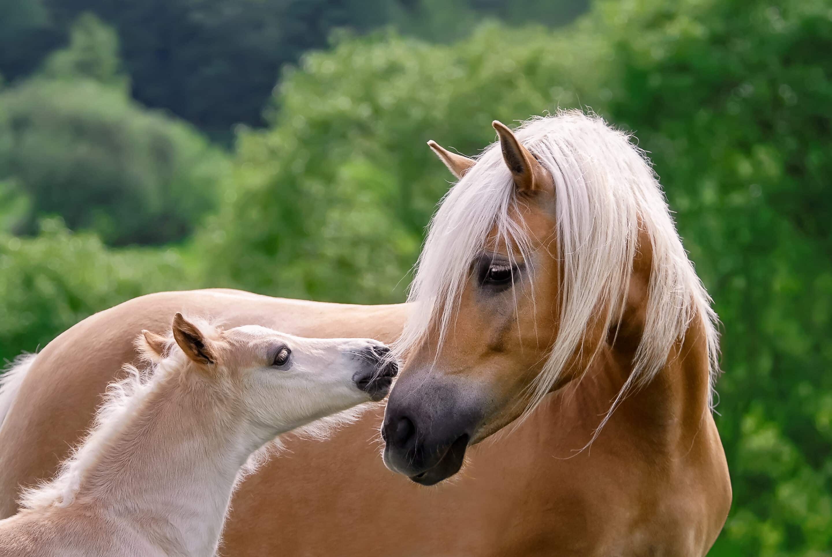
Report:
[[[142,331],[136,345],[150,370],[126,366],[56,478],[0,520],[0,555],[214,555],[266,444],[384,398],[397,371],[378,341],[221,331],[179,313],[171,335]]]

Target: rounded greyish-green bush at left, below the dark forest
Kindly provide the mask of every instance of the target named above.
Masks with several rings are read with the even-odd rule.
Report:
[[[186,236],[215,199],[225,157],[123,92],[35,79],[0,92],[0,179],[31,199],[20,230],[58,214],[109,244]]]

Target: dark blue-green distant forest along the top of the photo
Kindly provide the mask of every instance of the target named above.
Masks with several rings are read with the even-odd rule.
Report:
[[[263,107],[281,67],[326,47],[335,28],[361,33],[392,24],[453,38],[480,17],[561,22],[585,6],[585,0],[0,0],[0,74],[7,80],[31,74],[67,41],[72,22],[93,12],[121,39],[136,101],[227,139],[236,123],[265,125]]]

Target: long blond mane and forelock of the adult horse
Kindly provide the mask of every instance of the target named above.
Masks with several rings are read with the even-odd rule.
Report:
[[[656,376],[666,365],[671,346],[684,338],[694,319],[701,320],[706,331],[712,407],[713,383],[719,373],[717,316],[645,153],[631,135],[580,111],[533,118],[515,134],[554,179],[562,282],[560,332],[532,385],[528,410],[556,384],[577,350],[594,354],[600,348],[601,342],[582,345],[599,307],[608,308],[602,316],[605,330],[617,322],[640,230],[652,248],[646,325],[631,375],[612,408],[628,390]],[[511,216],[518,214],[513,211],[516,189],[500,144],[494,142],[448,191],[430,223],[410,287],[409,301],[422,307],[410,313],[394,346],[396,356],[404,357],[418,346],[433,323],[438,323],[441,345],[452,326],[453,308],[468,280],[471,261],[486,247],[492,230],[527,256],[529,238]]]

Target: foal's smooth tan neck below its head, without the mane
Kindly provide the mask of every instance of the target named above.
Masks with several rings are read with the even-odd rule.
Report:
[[[189,555],[213,555],[236,476],[257,442],[204,381],[180,379],[166,377],[143,395],[76,499],[112,519],[154,525],[157,537]]]

